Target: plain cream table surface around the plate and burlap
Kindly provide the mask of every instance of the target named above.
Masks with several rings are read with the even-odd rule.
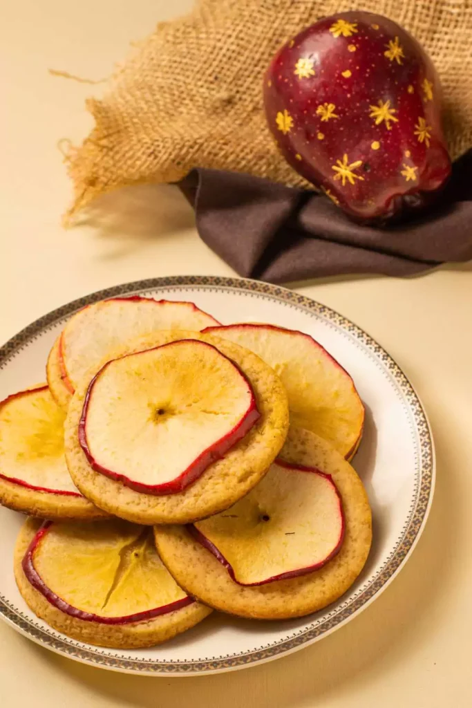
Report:
[[[88,130],[84,98],[98,87],[47,69],[107,76],[129,40],[189,7],[190,0],[1,0],[2,342],[86,292],[159,275],[232,274],[202,244],[192,211],[171,187],[127,190],[101,205],[100,224],[60,226],[70,185],[56,144]],[[437,488],[413,558],[339,632],[279,661],[217,676],[111,673],[57,656],[1,623],[2,708],[472,705],[472,267],[297,288],[381,342],[425,402]]]

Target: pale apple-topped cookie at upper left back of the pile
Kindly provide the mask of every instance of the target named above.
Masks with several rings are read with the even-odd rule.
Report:
[[[192,302],[151,297],[113,297],[76,312],[62,330],[47,360],[47,382],[59,406],[67,409],[84,374],[98,367],[108,351],[152,331],[200,331],[219,322]]]

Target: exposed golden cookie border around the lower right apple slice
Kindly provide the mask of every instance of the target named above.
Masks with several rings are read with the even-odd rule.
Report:
[[[221,559],[192,537],[188,527],[154,527],[159,555],[180,587],[221,612],[255,619],[309,615],[338,600],[354,583],[367,560],[372,542],[372,515],[362,481],[350,464],[328,442],[300,428],[290,429],[280,458],[295,467],[314,467],[329,474],[342,498],[343,542],[319,569],[274,581],[270,578],[274,573],[268,571],[264,583],[243,586],[234,581]],[[225,514],[231,512],[229,509]],[[251,556],[245,562],[251,572]]]

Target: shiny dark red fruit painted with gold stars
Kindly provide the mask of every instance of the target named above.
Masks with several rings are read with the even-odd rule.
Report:
[[[267,121],[301,176],[352,217],[424,207],[451,172],[440,84],[388,18],[345,12],[287,42],[265,75]]]

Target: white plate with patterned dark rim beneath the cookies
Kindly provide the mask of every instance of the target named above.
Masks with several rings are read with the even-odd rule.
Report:
[[[326,610],[259,622],[214,612],[190,632],[154,649],[100,649],[68,639],[35,617],[16,589],[13,544],[20,514],[0,508],[0,616],[39,644],[79,661],[132,673],[189,675],[253,666],[301,649],[349,622],[379,596],[418,541],[434,489],[434,450],[418,396],[396,362],[333,310],[282,287],[212,277],[159,278],[113,287],[34,322],[0,349],[0,399],[45,380],[45,362],[67,316],[105,297],[140,293],[191,300],[224,324],[261,321],[311,334],[350,372],[367,409],[354,466],[369,494],[374,542],[352,588]]]

